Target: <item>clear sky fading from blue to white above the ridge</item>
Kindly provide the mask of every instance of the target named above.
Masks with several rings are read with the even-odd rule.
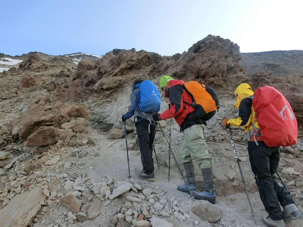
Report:
[[[0,0],[0,52],[173,55],[207,35],[241,52],[302,50],[301,1]]]

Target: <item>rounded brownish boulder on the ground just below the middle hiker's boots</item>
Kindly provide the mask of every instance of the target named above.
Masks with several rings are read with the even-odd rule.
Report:
[[[191,208],[191,211],[201,220],[208,221],[210,223],[217,222],[222,217],[222,211],[210,202],[199,202]]]

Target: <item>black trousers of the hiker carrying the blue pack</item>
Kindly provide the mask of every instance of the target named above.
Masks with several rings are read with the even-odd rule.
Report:
[[[150,125],[150,133],[148,132],[149,121],[148,120],[141,120],[136,123],[136,130],[138,135],[138,143],[140,147],[141,153],[141,162],[143,166],[143,172],[146,174],[150,174],[154,171],[154,160],[152,158],[152,151],[154,143],[155,135],[156,135],[156,125]]]

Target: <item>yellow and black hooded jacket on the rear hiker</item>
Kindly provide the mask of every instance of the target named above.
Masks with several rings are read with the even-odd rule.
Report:
[[[252,107],[252,100],[246,100],[245,102],[241,103],[243,98],[249,97],[253,94],[254,92],[251,90],[251,87],[246,83],[240,84],[237,87],[235,90],[236,101],[234,108],[239,109],[239,117],[236,119],[228,120],[227,124],[235,127],[244,127],[246,133],[248,133],[249,130],[254,129],[250,123],[253,123],[258,129],[260,129],[260,126],[255,117],[254,108]]]

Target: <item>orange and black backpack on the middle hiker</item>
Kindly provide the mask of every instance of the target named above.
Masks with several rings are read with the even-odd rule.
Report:
[[[192,103],[183,103],[195,108],[193,114],[189,115],[188,118],[209,120],[215,115],[216,110],[219,110],[219,99],[213,87],[205,86],[197,81],[190,81],[184,84],[184,88],[191,96]]]

